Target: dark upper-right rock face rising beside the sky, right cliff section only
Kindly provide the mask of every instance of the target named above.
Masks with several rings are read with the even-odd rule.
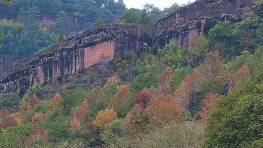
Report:
[[[164,46],[174,40],[185,47],[196,43],[200,35],[208,36],[218,22],[239,21],[246,6],[254,0],[197,0],[172,12],[157,23],[155,42]]]

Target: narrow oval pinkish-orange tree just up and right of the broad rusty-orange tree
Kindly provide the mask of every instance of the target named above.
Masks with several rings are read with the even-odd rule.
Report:
[[[181,109],[188,109],[190,103],[190,87],[183,82],[174,92],[176,101]]]

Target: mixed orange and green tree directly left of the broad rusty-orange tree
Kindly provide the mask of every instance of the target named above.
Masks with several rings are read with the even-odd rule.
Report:
[[[135,104],[124,119],[125,124],[131,130],[131,135],[147,133],[150,125],[146,111],[139,104]]]

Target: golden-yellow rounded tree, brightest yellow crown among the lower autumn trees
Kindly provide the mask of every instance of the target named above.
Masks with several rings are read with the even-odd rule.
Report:
[[[104,129],[105,125],[116,120],[118,118],[117,113],[113,109],[105,109],[99,111],[96,120],[93,121],[94,125],[100,129]]]

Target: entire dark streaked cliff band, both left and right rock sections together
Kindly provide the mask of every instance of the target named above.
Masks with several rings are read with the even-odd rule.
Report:
[[[35,83],[44,84],[97,64],[107,65],[114,54],[148,46],[164,46],[170,40],[190,46],[218,21],[241,20],[253,0],[197,0],[160,19],[155,30],[136,25],[108,24],[77,34],[64,42],[0,69],[0,90],[24,92]]]

